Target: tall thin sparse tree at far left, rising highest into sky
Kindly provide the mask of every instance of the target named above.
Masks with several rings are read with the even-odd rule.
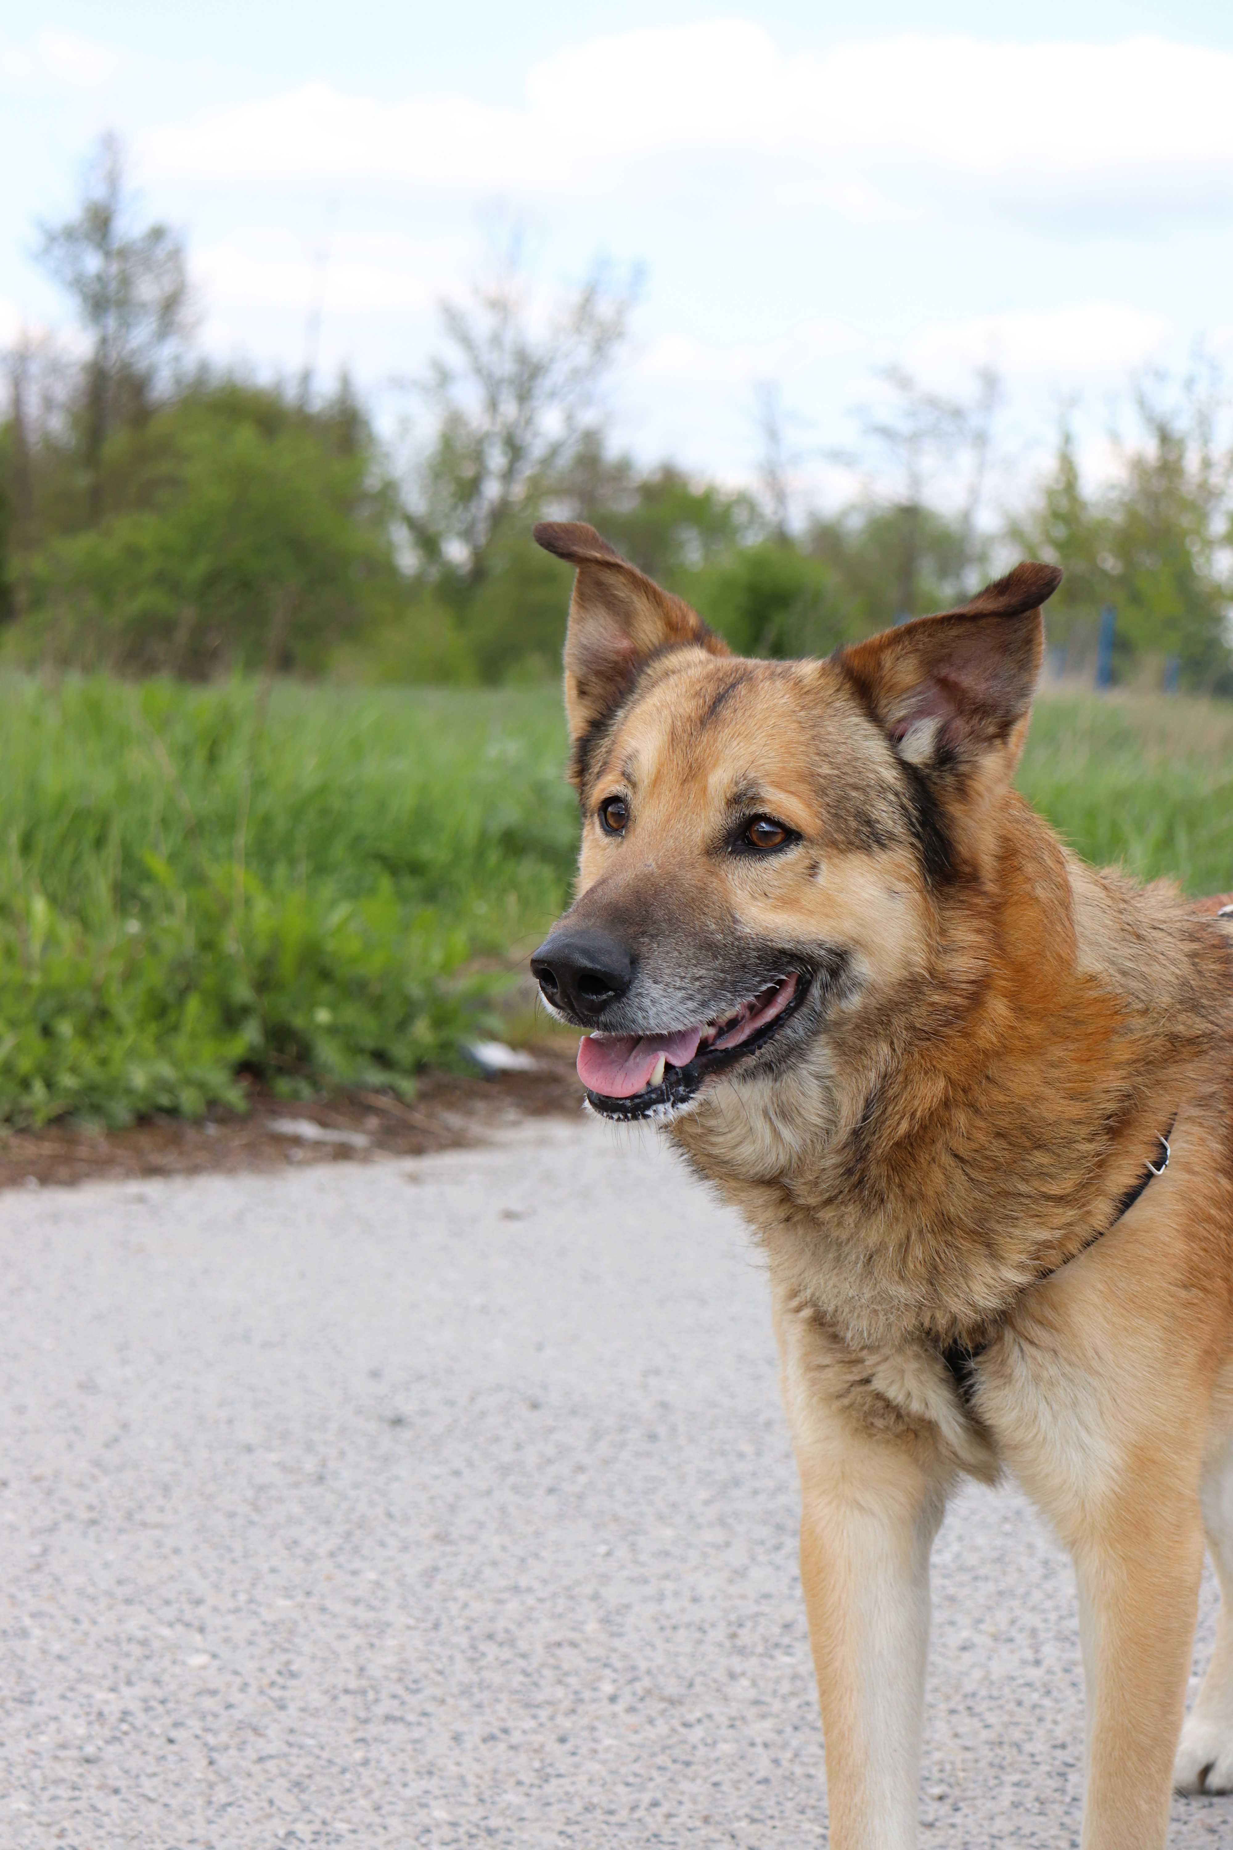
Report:
[[[159,366],[189,333],[185,250],[165,224],[139,228],[116,135],[100,137],[76,218],[41,226],[39,261],[72,298],[91,339],[81,450],[91,518],[102,512],[107,437],[150,400]]]

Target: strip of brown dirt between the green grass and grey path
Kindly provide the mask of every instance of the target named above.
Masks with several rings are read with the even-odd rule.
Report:
[[[0,1188],[427,1156],[482,1143],[519,1117],[577,1117],[582,1090],[573,1054],[562,1047],[536,1047],[532,1073],[495,1079],[425,1073],[409,1104],[383,1092],[296,1103],[253,1092],[248,1114],[211,1112],[198,1123],[152,1117],[129,1130],[72,1125],[7,1130],[0,1132]],[[299,1125],[299,1132],[292,1125]],[[338,1141],[327,1140],[331,1132]]]

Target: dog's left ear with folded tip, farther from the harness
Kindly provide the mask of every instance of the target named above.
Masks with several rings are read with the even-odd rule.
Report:
[[[566,633],[566,720],[577,744],[623,699],[656,649],[697,644],[712,655],[728,646],[682,598],[660,590],[580,520],[542,520],[540,546],[579,568]]]

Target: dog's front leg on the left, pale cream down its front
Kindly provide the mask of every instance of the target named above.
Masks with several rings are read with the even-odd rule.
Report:
[[[810,1312],[776,1301],[832,1850],[917,1843],[930,1548],[954,1467]]]

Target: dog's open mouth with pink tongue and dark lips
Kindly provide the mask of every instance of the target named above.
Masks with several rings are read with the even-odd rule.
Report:
[[[806,980],[778,977],[739,1008],[675,1034],[588,1034],[579,1045],[579,1079],[592,1110],[604,1117],[653,1117],[686,1104],[708,1073],[745,1060],[776,1034],[800,1005]]]

